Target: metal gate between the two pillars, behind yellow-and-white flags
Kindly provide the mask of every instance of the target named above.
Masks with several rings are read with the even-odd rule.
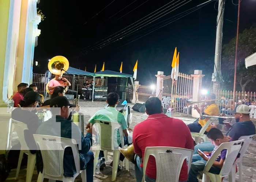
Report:
[[[193,78],[190,75],[179,73],[177,80],[171,76],[163,78],[162,105],[164,109],[171,108],[172,114],[191,114],[187,101],[192,98]]]

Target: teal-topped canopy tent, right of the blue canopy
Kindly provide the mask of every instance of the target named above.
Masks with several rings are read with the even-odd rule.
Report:
[[[130,78],[131,82],[132,82],[133,91],[135,91],[133,80],[132,80],[132,75],[120,73],[120,72],[116,72],[116,71],[111,71],[111,70],[98,71],[94,74],[93,81],[95,81],[94,79],[97,76]],[[92,97],[93,99],[94,99],[94,85],[95,84],[93,84],[93,97]],[[136,94],[135,94],[135,96],[136,96]],[[92,99],[92,102],[93,102],[93,99]]]

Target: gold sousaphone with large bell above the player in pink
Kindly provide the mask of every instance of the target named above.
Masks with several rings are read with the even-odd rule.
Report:
[[[54,56],[48,63],[48,70],[54,75],[61,75],[68,70],[69,62],[64,56]],[[55,78],[53,78],[55,79]],[[49,82],[46,84],[46,91],[49,94]],[[65,86],[65,91],[68,90],[68,86]]]

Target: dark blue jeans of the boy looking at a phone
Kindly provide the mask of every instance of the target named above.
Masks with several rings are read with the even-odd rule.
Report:
[[[199,171],[203,171],[207,161],[205,161],[199,154],[194,154],[192,158],[191,167],[188,174],[189,182],[198,182],[197,175]],[[219,174],[221,169],[217,167],[211,167],[210,173]]]

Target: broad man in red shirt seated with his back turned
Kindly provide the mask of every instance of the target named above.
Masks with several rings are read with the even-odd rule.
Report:
[[[189,128],[180,119],[170,118],[163,114],[161,101],[157,97],[149,98],[146,103],[146,120],[137,124],[133,130],[132,143],[136,156],[135,176],[137,182],[142,181],[142,165],[146,147],[167,146],[193,149],[193,139]],[[154,157],[148,159],[146,181],[156,179],[156,164]],[[188,179],[188,166],[184,161],[180,172],[180,182]]]

